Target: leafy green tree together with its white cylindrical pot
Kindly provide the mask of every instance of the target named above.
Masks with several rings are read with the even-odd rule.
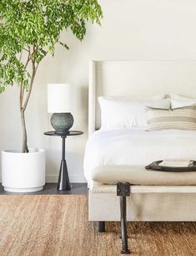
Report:
[[[2,152],[3,187],[34,192],[45,183],[45,151],[28,148],[25,110],[41,61],[54,54],[64,29],[83,40],[88,21],[100,24],[97,0],[2,0],[0,2],[0,93],[17,84],[23,131],[22,148]]]

